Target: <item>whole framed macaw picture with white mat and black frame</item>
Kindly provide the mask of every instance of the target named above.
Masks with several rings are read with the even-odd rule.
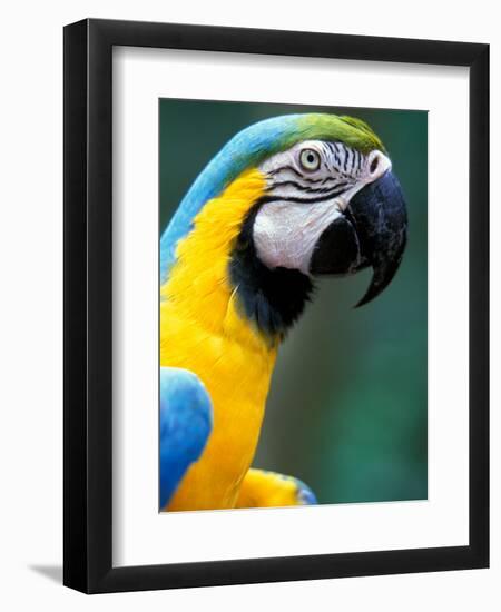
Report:
[[[487,567],[489,46],[65,28],[87,593]]]

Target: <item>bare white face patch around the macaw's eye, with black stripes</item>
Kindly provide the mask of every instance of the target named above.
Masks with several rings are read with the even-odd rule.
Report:
[[[341,142],[308,140],[276,154],[259,167],[267,176],[266,201],[258,210],[253,237],[268,268],[310,274],[312,254],[323,231],[352,197],[391,168],[379,150],[369,155]]]

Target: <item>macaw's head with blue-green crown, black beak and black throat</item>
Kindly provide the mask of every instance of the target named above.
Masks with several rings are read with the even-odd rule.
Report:
[[[364,121],[287,115],[244,129],[199,175],[165,244],[187,234],[204,203],[248,170],[258,171],[264,188],[248,203],[230,248],[228,276],[257,327],[284,335],[303,312],[316,277],[371,267],[372,280],[357,306],[387,287],[402,260],[407,217],[391,159]]]

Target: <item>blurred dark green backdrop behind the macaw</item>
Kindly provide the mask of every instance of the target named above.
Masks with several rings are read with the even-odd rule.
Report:
[[[370,270],[318,284],[279,351],[254,465],[303,480],[320,503],[426,499],[428,113],[161,99],[160,230],[232,136],[292,112],[372,126],[402,184],[409,245],[390,287],[360,309]]]

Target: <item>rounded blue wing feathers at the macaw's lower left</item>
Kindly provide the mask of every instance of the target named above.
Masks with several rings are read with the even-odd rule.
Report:
[[[160,510],[200,456],[212,428],[210,397],[198,376],[187,369],[160,368]]]

